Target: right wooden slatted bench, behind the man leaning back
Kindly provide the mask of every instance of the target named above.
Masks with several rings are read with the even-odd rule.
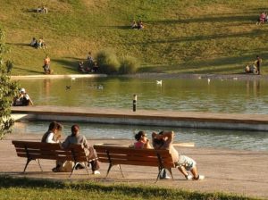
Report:
[[[109,163],[106,177],[114,165],[118,165],[120,171],[121,164],[152,166],[159,169],[155,181],[157,182],[157,180],[160,178],[161,171],[166,169],[172,175],[172,168],[175,167],[172,161],[172,155],[168,150],[135,149],[133,147],[116,145],[95,145],[94,148],[96,150],[98,161]],[[124,177],[122,171],[121,175]]]

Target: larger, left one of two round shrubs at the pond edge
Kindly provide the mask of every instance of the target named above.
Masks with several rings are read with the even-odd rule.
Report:
[[[111,50],[101,50],[96,54],[96,63],[101,73],[113,74],[118,72],[120,63]]]

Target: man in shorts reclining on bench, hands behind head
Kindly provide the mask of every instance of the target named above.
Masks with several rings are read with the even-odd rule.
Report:
[[[174,140],[173,131],[161,131],[160,133],[152,133],[153,146],[155,149],[168,149],[172,154],[172,160],[178,170],[185,176],[185,179],[205,179],[205,176],[199,175],[197,172],[197,162],[186,155],[179,154],[172,145]],[[190,171],[191,174],[188,172]]]

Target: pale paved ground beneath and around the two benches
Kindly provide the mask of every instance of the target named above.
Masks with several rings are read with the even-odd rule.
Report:
[[[25,176],[28,178],[40,179],[68,179],[69,173],[54,173],[53,161],[41,161],[44,172],[40,172],[35,162],[29,163],[28,172],[23,175],[26,159],[16,156],[12,139],[40,140],[41,136],[21,134],[9,135],[0,141],[0,173],[9,174],[15,177]],[[133,141],[105,141],[91,140],[90,144],[96,143],[121,143],[130,144]],[[75,171],[71,179],[100,181],[105,184],[124,183],[128,185],[150,185],[152,187],[186,188],[201,192],[222,191],[243,196],[257,196],[268,199],[267,152],[235,151],[229,149],[177,147],[180,153],[187,154],[197,161],[200,174],[206,179],[202,181],[188,181],[183,179],[179,171],[173,169],[175,180],[160,180],[155,184],[157,169],[152,167],[122,166],[126,176],[121,178],[121,173],[114,167],[105,179],[107,165],[101,163],[101,175],[87,175],[84,170]]]

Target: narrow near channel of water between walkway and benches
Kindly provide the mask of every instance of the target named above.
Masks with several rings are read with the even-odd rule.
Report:
[[[38,134],[40,138],[46,132],[49,122],[16,122],[13,134],[26,133]],[[69,135],[73,123],[63,123],[63,134]],[[89,124],[79,123],[82,134],[93,138],[108,139],[133,139],[134,133],[138,130],[146,130],[148,135],[152,131],[174,130],[176,133],[175,142],[194,142],[200,147],[223,147],[232,149],[264,150],[268,151],[268,137],[266,132],[257,131],[239,131],[239,130],[219,130],[219,129],[181,129],[166,127],[148,127],[148,126],[126,126],[112,124]],[[134,141],[134,140],[133,140]]]

